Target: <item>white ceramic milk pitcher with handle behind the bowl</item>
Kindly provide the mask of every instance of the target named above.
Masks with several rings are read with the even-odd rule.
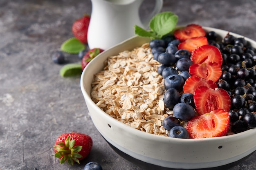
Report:
[[[147,28],[153,16],[162,9],[163,0],[155,0],[155,7],[143,22],[139,8],[144,0],[91,0],[92,13],[88,28],[90,49],[106,50],[133,35],[134,25]]]

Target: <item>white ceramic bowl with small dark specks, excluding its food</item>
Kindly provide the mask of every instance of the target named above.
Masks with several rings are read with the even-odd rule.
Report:
[[[224,37],[227,31],[203,27]],[[236,37],[243,37],[230,33]],[[256,42],[245,38],[252,46]],[[124,50],[132,50],[149,42],[132,37],[95,57],[81,75],[81,90],[90,117],[110,146],[121,156],[146,169],[203,169],[225,167],[247,157],[256,150],[256,128],[235,135],[205,139],[176,139],[142,132],[117,121],[103,112],[91,99],[93,75],[101,71],[103,62]]]

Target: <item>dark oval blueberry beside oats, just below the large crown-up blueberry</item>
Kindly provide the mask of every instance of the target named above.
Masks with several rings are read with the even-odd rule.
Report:
[[[169,88],[164,93],[164,106],[170,110],[180,101],[180,93],[175,88]]]

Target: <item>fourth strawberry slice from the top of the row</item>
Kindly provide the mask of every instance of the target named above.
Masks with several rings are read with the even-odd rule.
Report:
[[[196,75],[198,77],[211,79],[213,82],[217,82],[222,74],[222,71],[218,63],[211,62],[209,64],[192,64],[189,67],[189,73],[190,75]]]

